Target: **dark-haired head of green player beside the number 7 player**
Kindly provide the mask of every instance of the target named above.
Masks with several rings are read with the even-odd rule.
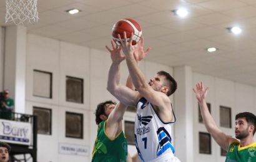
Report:
[[[101,102],[97,105],[96,108],[96,124],[99,125],[103,120],[107,120],[109,114],[114,110],[116,107],[116,102],[108,100],[106,102]]]

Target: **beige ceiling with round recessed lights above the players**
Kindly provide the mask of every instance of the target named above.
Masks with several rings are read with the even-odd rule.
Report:
[[[5,24],[0,1],[0,25]],[[184,19],[171,11],[185,7]],[[70,15],[68,9],[82,12]],[[39,21],[27,32],[106,50],[112,26],[132,18],[142,26],[145,59],[169,66],[190,65],[195,72],[256,86],[255,0],[38,0]],[[240,26],[239,35],[227,27]],[[207,52],[217,47],[217,52]]]

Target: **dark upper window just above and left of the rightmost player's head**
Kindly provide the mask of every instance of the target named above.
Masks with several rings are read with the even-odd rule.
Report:
[[[220,106],[220,126],[231,128],[231,108]]]

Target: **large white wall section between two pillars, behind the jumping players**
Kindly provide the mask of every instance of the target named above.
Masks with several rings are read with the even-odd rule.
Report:
[[[91,161],[97,135],[94,115],[97,104],[105,100],[116,100],[106,90],[110,65],[111,59],[107,50],[89,49],[46,37],[27,35],[26,113],[32,114],[32,107],[52,110],[52,135],[38,135],[37,161]],[[142,61],[140,68],[145,72],[147,79],[159,70],[166,70],[172,74],[172,68],[153,62]],[[52,72],[52,98],[32,95],[34,69]],[[122,62],[121,83],[126,82],[128,74],[126,64]],[[66,102],[66,75],[84,79],[83,104]],[[84,139],[65,137],[66,111],[84,115]],[[135,114],[128,112],[124,119],[134,121]],[[58,151],[59,143],[89,146],[89,156],[61,155]],[[129,152],[134,155],[135,146],[129,146]]]

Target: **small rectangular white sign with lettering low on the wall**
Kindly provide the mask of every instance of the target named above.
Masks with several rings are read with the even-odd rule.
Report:
[[[59,143],[60,154],[89,156],[89,151],[89,146]]]

